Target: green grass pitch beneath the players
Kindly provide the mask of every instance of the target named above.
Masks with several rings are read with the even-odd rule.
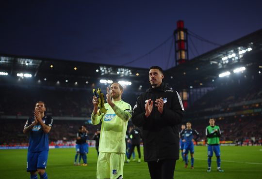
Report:
[[[143,150],[143,149],[142,149]],[[143,152],[142,152],[143,153]],[[97,153],[89,148],[88,166],[74,166],[75,149],[50,149],[47,165],[49,179],[96,179]],[[136,158],[137,158],[136,153]],[[26,149],[0,150],[1,179],[29,179],[26,172]],[[207,147],[195,147],[195,169],[184,168],[177,161],[175,179],[262,179],[262,147],[221,146],[221,168],[216,171],[216,158],[212,160],[212,172],[207,170]],[[190,161],[190,157],[189,157]],[[190,163],[189,163],[190,164]],[[189,165],[190,166],[190,165]],[[124,165],[124,179],[150,179],[147,163],[131,162]]]

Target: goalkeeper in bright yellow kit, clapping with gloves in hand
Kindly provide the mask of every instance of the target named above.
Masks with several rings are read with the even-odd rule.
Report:
[[[100,89],[93,92],[92,124],[102,122],[97,179],[122,179],[126,154],[125,137],[128,120],[131,119],[131,106],[121,100],[123,87],[117,82],[111,84],[110,90],[107,88],[106,104],[103,104]]]

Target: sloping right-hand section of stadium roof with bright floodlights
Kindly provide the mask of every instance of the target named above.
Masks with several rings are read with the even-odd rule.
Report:
[[[233,69],[242,66],[246,67],[245,75],[259,75],[259,66],[262,66],[262,30],[170,68],[165,73],[169,77],[169,84],[176,89],[187,89],[189,86],[213,86],[213,82],[219,80],[219,74],[226,71],[233,74]]]

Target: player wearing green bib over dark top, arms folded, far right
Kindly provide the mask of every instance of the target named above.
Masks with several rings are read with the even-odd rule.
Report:
[[[207,144],[208,144],[208,170],[211,172],[211,158],[213,156],[213,151],[216,156],[217,171],[224,172],[220,168],[221,159],[220,159],[220,145],[219,138],[221,136],[221,131],[218,126],[215,125],[215,119],[209,119],[209,126],[206,128]]]

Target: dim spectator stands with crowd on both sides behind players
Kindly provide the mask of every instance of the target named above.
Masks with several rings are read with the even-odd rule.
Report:
[[[241,89],[241,90],[239,90]],[[102,90],[106,93],[106,90]],[[123,100],[133,107],[138,94],[124,91]],[[74,119],[84,117],[90,119],[93,110],[92,90],[14,87],[0,88],[0,116],[33,116],[34,104],[42,100],[46,103],[47,114],[54,119],[50,131],[50,145],[74,145],[78,128],[85,125],[92,137],[100,125],[89,124],[87,120]],[[222,141],[233,141],[238,145],[261,145],[262,140],[262,85],[233,85],[217,87],[206,93],[185,111],[186,121],[192,122],[193,129],[199,132],[198,141],[205,141],[205,128],[208,119],[196,119],[214,114],[226,114],[243,110],[257,109],[257,113],[229,115],[217,118],[216,124],[222,131]],[[253,103],[254,102],[254,103]],[[60,117],[56,120],[56,117]],[[64,120],[63,117],[70,117]],[[0,146],[27,146],[28,136],[23,134],[26,119],[0,119],[3,127],[0,130]]]

